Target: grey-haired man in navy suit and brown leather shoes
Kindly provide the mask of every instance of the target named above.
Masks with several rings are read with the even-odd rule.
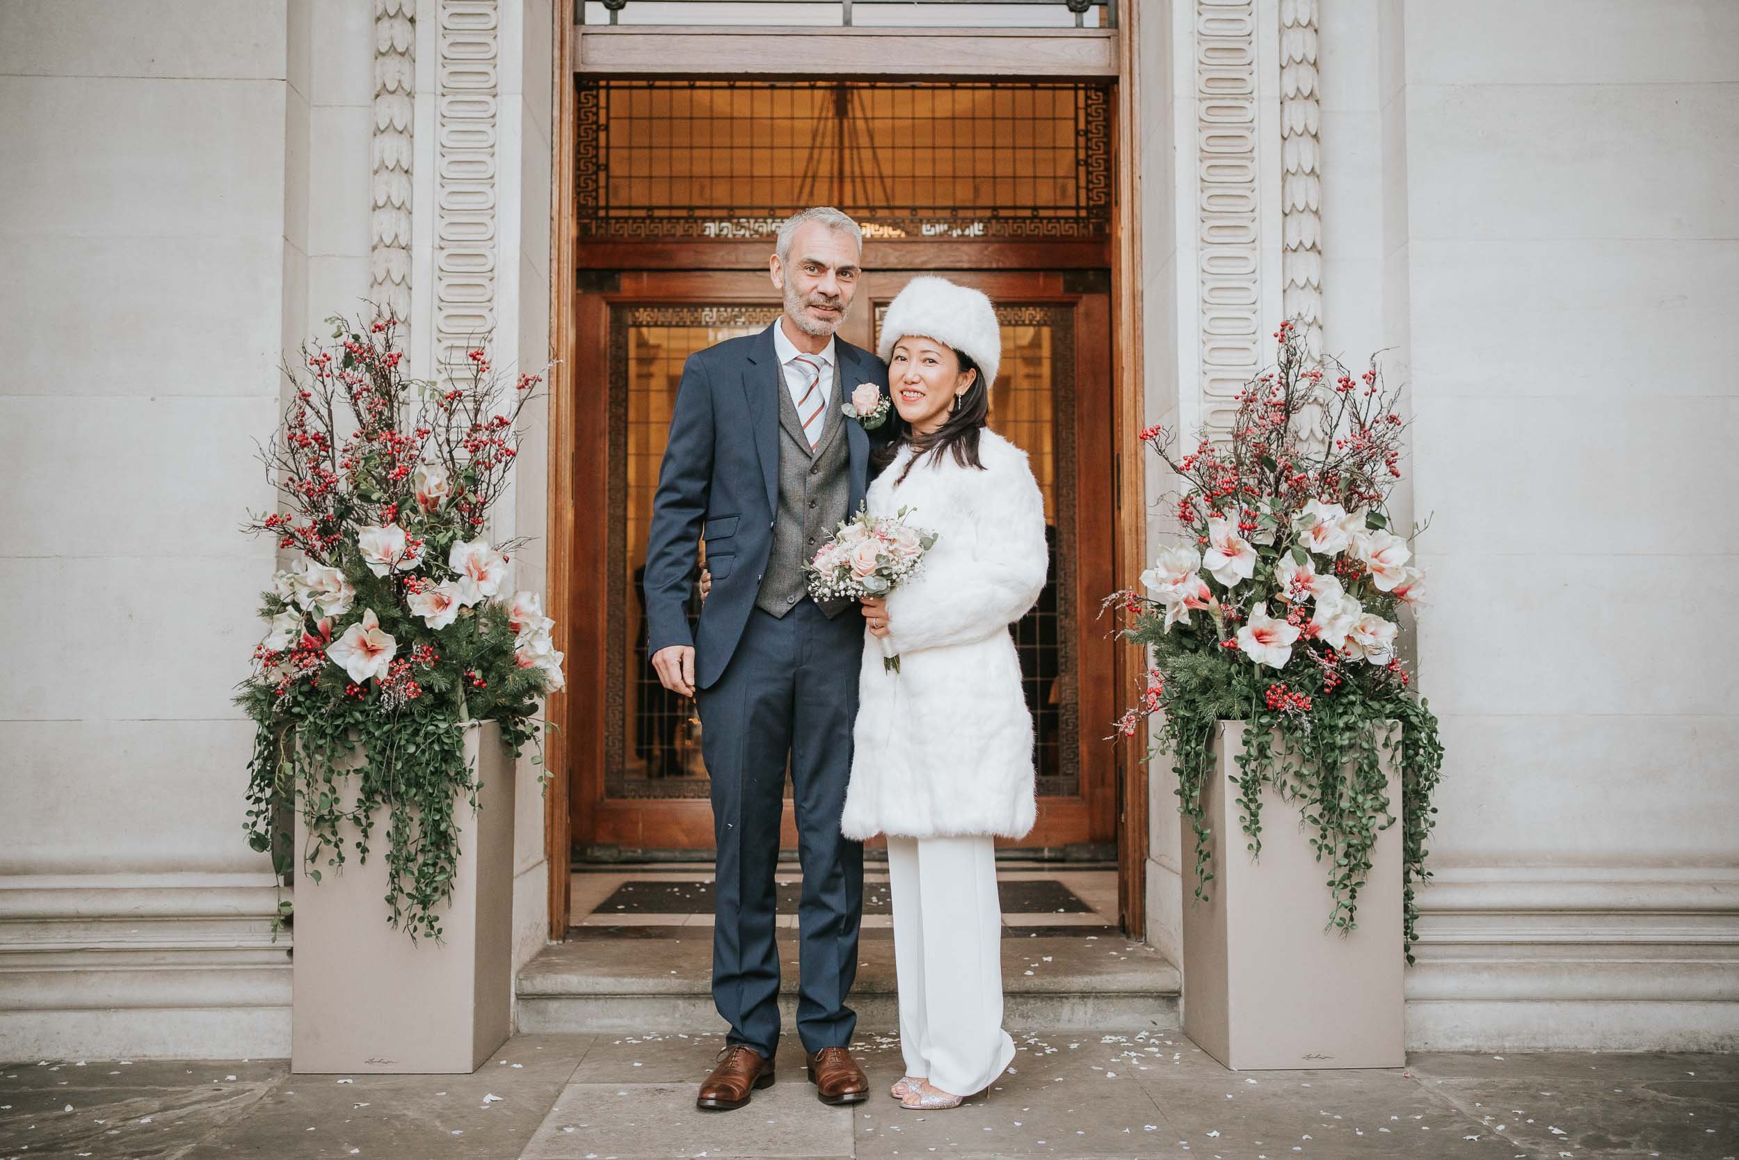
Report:
[[[774,1082],[788,760],[803,868],[796,1030],[823,1103],[861,1103],[870,1090],[847,1050],[857,1016],[845,1005],[863,847],[840,835],[864,626],[852,602],[810,600],[803,574],[868,489],[870,435],[842,405],[863,383],[887,393],[887,367],[835,337],[861,254],[863,231],[836,209],[807,209],[779,228],[769,271],[784,313],[683,365],[652,501],[647,647],[664,687],[696,697],[718,843],[713,1002],[730,1033],[696,1099],[706,1110],[741,1108]],[[683,609],[701,537],[713,586],[690,633]]]

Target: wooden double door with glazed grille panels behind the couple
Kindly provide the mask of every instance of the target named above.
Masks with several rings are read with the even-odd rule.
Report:
[[[866,273],[840,336],[875,350],[889,301],[916,273]],[[1002,369],[989,426],[1028,452],[1045,494],[1050,577],[1012,626],[1038,744],[1038,824],[1017,845],[1113,857],[1113,640],[1099,617],[1116,586],[1108,294],[1049,271],[949,277],[996,303]],[[565,744],[574,850],[710,850],[703,723],[652,671],[640,581],[683,362],[776,322],[777,294],[765,271],[659,271],[583,292],[576,310],[574,489],[570,511],[558,513],[572,518],[576,544]],[[790,807],[784,830],[795,847]]]

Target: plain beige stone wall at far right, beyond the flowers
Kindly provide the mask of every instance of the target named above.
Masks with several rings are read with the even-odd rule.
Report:
[[[1414,1042],[1730,1049],[1739,12],[1381,7],[1449,748]]]

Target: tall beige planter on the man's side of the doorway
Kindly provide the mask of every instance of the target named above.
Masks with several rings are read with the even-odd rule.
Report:
[[[478,770],[476,814],[454,812],[459,868],[442,943],[386,923],[386,819],[369,861],[313,882],[297,870],[290,1071],[475,1071],[513,1019],[513,762],[501,727],[466,730]],[[353,800],[353,798],[351,798]],[[299,805],[299,803],[297,803]],[[296,857],[308,833],[296,814]]]

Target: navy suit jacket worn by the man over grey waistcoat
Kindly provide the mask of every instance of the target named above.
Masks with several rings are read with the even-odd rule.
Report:
[[[647,652],[694,645],[694,680],[706,689],[725,671],[760,593],[772,525],[779,511],[779,391],[784,369],[772,343],[774,322],[760,334],[727,339],[689,355],[670,419],[670,442],[652,497],[647,534]],[[859,383],[887,395],[887,367],[866,350],[835,336],[845,398]],[[883,424],[882,435],[894,424]],[[871,433],[845,419],[850,445],[850,508],[870,487]],[[713,590],[690,633],[687,603],[699,553]]]

